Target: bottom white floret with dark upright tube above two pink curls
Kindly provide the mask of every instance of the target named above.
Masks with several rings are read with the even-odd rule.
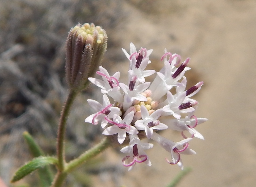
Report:
[[[129,167],[130,171],[136,163],[144,162],[148,166],[151,166],[151,162],[143,151],[145,149],[151,149],[154,145],[152,143],[142,143],[137,135],[129,135],[130,145],[122,148],[120,151],[128,154],[122,160],[124,166]],[[128,160],[128,164],[125,161]]]

